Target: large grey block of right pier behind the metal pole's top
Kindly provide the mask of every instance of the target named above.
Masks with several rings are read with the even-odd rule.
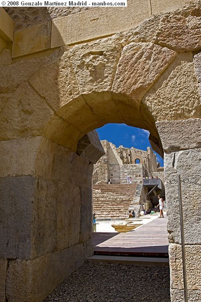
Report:
[[[181,175],[181,190],[184,211],[184,235],[186,244],[201,243],[200,220],[200,159],[201,149],[191,149],[165,154],[165,192],[168,215],[168,233],[170,243],[181,243],[179,203],[177,182],[170,183],[172,178]],[[188,182],[183,182],[185,178]]]

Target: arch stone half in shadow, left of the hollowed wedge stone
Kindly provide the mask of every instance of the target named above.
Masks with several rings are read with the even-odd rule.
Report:
[[[46,85],[42,79],[46,79]],[[68,52],[62,54],[61,50],[57,58],[30,77],[29,83],[54,110],[80,95]]]

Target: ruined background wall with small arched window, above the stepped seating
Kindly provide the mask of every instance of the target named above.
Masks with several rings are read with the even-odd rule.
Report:
[[[101,141],[105,155],[94,165],[93,184],[107,183],[111,178],[114,184],[126,184],[127,176],[131,176],[133,182],[142,183],[144,176],[150,176],[156,172],[156,156],[148,147],[147,151],[135,148],[116,147],[114,144]],[[140,159],[135,164],[135,159]]]

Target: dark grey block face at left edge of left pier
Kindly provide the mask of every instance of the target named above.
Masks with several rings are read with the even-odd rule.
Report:
[[[35,179],[0,178],[0,257],[30,259]]]

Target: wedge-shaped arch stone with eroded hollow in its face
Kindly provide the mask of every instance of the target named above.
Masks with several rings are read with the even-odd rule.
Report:
[[[69,51],[70,60],[82,94],[108,91],[121,54],[121,43],[110,38],[74,46]]]

